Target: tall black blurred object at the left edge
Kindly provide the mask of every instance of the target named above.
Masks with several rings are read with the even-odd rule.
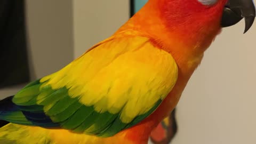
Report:
[[[0,88],[28,81],[25,2],[0,0]]]

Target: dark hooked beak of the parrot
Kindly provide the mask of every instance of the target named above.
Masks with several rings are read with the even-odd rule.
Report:
[[[245,20],[244,33],[246,33],[251,28],[255,19],[253,0],[228,0],[223,11],[221,26],[233,26],[243,18]]]

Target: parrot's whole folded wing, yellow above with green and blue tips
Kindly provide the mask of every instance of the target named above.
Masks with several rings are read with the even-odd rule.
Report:
[[[115,36],[28,84],[12,99],[18,110],[5,119],[108,137],[153,113],[177,77],[172,55],[149,38]]]

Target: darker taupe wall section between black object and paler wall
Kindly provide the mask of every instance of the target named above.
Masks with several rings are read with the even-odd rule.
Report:
[[[73,60],[73,7],[69,0],[26,0],[33,78],[51,74]]]

